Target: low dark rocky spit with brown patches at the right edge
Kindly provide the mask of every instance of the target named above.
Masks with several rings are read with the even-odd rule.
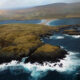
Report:
[[[80,25],[63,25],[57,26],[56,32],[68,35],[80,35]]]

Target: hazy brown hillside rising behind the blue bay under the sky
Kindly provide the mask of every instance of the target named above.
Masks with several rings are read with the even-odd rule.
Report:
[[[80,3],[54,3],[19,10],[0,10],[0,19],[51,19],[80,17]]]

